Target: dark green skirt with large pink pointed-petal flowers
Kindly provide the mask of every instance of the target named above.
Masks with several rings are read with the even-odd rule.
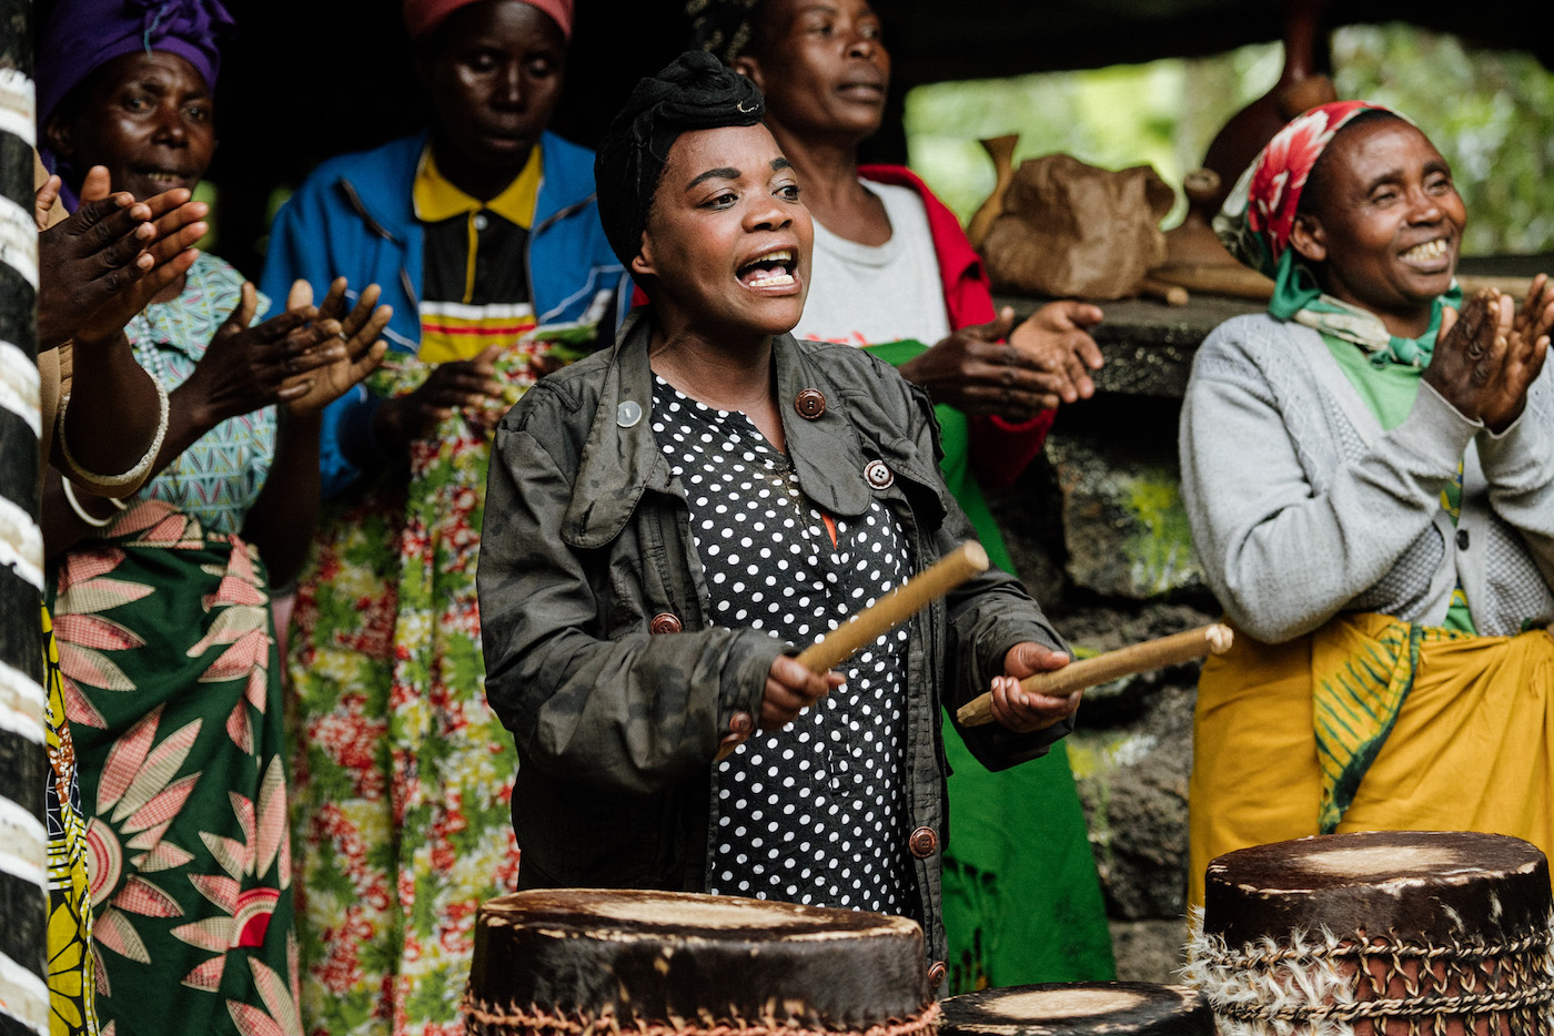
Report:
[[[256,551],[143,500],[53,603],[103,1031],[300,1031],[281,694]]]

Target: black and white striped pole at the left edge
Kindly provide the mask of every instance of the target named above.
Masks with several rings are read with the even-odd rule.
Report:
[[[31,25],[0,0],[0,1036],[48,1033]]]

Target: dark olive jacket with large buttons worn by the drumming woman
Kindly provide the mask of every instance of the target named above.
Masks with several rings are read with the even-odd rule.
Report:
[[[650,328],[651,312],[632,314],[614,349],[536,384],[496,432],[480,623],[486,696],[521,761],[513,826],[525,887],[706,892],[713,756],[738,713],[760,714],[772,659],[791,649],[712,621],[685,494],[653,436]],[[775,340],[774,365],[779,401],[807,388],[825,401],[808,419],[782,405],[811,500],[853,517],[883,497],[918,568],[973,536],[939,475],[937,427],[920,390],[862,349],[791,335]],[[864,477],[875,460],[894,475],[875,469],[887,486]],[[936,960],[945,947],[942,707],[987,690],[1024,640],[1061,649],[1037,603],[996,570],[911,626],[908,815],[918,921]],[[1002,769],[1043,755],[1069,727],[965,733],[977,758]],[[1035,822],[1012,809],[1010,823]]]

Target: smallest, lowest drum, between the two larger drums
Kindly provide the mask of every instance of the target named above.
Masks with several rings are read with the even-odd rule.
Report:
[[[940,1036],[1214,1036],[1201,996],[1144,982],[984,989],[949,997],[940,1010]]]

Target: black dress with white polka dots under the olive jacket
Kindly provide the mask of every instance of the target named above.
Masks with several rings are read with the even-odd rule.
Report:
[[[654,377],[653,433],[690,502],[720,626],[810,645],[911,575],[889,508],[830,519],[738,412]],[[833,530],[834,528],[834,544]],[[915,910],[906,853],[906,628],[847,683],[718,769],[712,892],[880,913]]]

